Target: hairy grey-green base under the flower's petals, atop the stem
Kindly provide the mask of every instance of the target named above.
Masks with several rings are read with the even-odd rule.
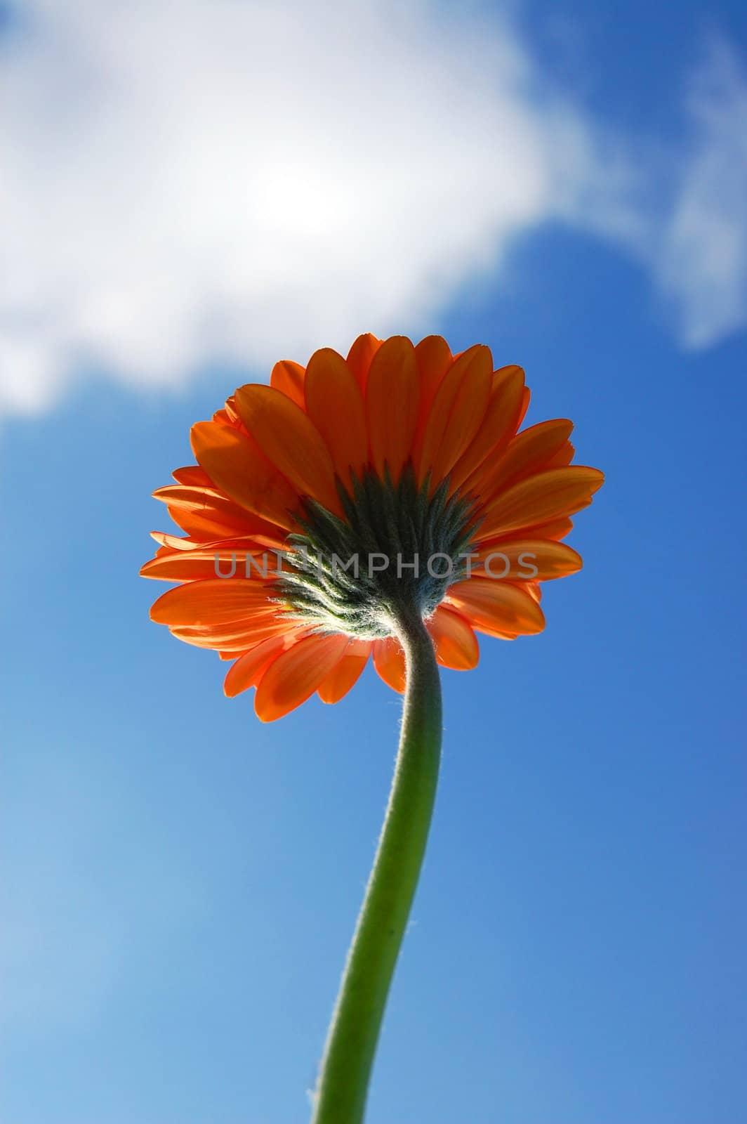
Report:
[[[464,575],[475,531],[473,504],[448,498],[448,479],[429,490],[408,464],[397,484],[371,469],[353,474],[352,495],[338,481],[345,520],[307,500],[297,516],[303,533],[286,543],[279,601],[308,624],[364,640],[391,635],[403,611],[429,617]]]

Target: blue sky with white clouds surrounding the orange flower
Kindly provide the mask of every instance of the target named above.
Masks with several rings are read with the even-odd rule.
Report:
[[[444,673],[367,1120],[747,1122],[745,17],[8,10],[3,1120],[307,1118],[399,700],[263,726],[137,570],[191,423],[373,330],[521,363],[608,482]]]

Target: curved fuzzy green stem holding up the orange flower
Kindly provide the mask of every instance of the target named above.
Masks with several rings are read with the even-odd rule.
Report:
[[[359,1124],[386,996],[415,897],[436,799],[441,692],[430,636],[401,619],[407,691],[376,858],[327,1036],[312,1124]]]

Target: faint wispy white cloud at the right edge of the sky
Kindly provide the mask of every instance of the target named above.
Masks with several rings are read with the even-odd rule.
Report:
[[[690,91],[692,151],[654,266],[683,342],[707,346],[747,325],[747,75],[722,40]]]

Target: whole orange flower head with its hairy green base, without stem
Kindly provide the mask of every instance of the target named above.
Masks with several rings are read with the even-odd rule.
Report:
[[[226,695],[256,687],[265,722],[337,703],[372,653],[402,691],[401,613],[456,670],[475,633],[540,632],[540,583],[581,569],[561,540],[603,475],[571,464],[571,422],[518,432],[528,404],[521,368],[440,336],[276,363],[192,427],[198,463],[154,492],[184,535],[153,533],[140,572],[180,584],[152,619],[234,661]]]

